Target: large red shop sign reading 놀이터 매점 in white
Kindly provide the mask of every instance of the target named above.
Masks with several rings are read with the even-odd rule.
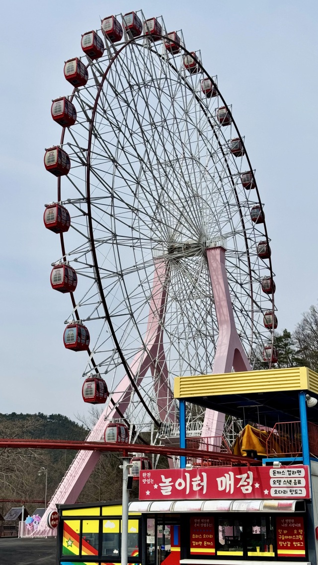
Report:
[[[308,466],[140,471],[140,500],[311,498]]]

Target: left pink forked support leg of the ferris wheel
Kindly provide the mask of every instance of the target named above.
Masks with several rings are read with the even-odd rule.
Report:
[[[166,311],[168,278],[169,273],[167,272],[166,263],[162,261],[156,262],[147,332],[144,339],[145,350],[139,351],[139,353],[136,354],[130,366],[132,375],[137,375],[137,385],[141,384],[149,368],[151,369],[152,376],[156,379],[155,390],[157,394],[158,412],[162,420],[169,414],[171,403],[173,402],[169,387],[169,375],[162,335]],[[118,406],[122,414],[129,405],[130,397],[131,383],[128,376],[125,375],[112,395],[115,405]],[[91,433],[89,433],[87,440],[102,440],[109,420],[119,417],[116,408],[109,404],[104,412],[102,412],[100,419],[97,421]],[[174,421],[174,413],[171,414],[170,419]],[[42,524],[45,524],[48,512],[53,510],[56,504],[72,504],[76,502],[81,490],[83,490],[85,483],[94,470],[100,455],[100,451],[79,451],[61,481],[61,484],[51,498],[49,507],[42,518]]]

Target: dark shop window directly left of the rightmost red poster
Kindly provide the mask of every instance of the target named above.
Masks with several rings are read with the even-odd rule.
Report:
[[[248,557],[275,557],[271,516],[248,516],[246,524]]]

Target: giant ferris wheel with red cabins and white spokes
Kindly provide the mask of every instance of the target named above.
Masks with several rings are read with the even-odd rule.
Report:
[[[104,383],[90,438],[117,418],[131,441],[145,429],[160,441],[177,421],[174,377],[213,371],[218,266],[244,370],[263,350],[275,361],[264,206],[217,77],[181,31],[130,12],[81,48],[64,68],[72,94],[51,107],[60,144],[44,159],[58,184],[44,221],[62,249],[51,285],[71,297],[65,347],[87,351],[84,379]],[[202,412],[188,421],[197,433]]]

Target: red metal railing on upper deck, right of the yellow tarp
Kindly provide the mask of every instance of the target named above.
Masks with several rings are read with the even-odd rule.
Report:
[[[318,457],[318,425],[308,422],[309,449]],[[267,457],[297,457],[302,454],[300,421],[278,422],[266,443]]]

